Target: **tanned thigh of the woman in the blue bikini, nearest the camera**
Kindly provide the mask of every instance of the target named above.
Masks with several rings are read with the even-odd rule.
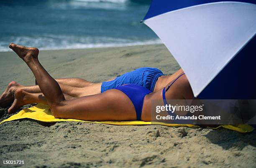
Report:
[[[54,114],[58,118],[86,121],[132,121],[136,111],[122,91],[111,89],[102,94],[62,101]]]

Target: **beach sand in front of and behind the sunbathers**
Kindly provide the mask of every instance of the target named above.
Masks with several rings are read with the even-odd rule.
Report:
[[[55,78],[101,82],[138,67],[172,74],[179,65],[163,45],[41,51]],[[14,52],[0,52],[0,93],[8,82],[30,85],[33,74]],[[0,109],[0,121],[10,115]],[[111,126],[29,119],[0,124],[0,159],[23,167],[256,167],[256,131],[166,126]]]

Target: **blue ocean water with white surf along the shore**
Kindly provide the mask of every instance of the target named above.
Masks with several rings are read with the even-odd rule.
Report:
[[[140,23],[150,0],[0,0],[0,51],[158,44]]]

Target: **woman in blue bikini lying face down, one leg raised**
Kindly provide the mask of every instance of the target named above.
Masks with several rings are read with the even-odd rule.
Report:
[[[28,65],[42,91],[31,94],[22,89],[15,91],[15,100],[8,112],[20,103],[46,103],[55,118],[87,121],[151,121],[151,100],[193,99],[192,89],[185,74],[180,74],[162,90],[151,92],[136,84],[126,84],[101,94],[66,100],[61,88],[38,61],[37,48],[11,43],[9,46]],[[46,98],[43,100],[44,97]],[[121,112],[122,111],[122,112]],[[121,113],[120,113],[121,112]]]

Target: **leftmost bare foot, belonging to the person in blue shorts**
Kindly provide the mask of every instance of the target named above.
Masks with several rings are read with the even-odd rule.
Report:
[[[22,87],[22,85],[15,81],[8,84],[5,91],[0,96],[0,107],[7,107],[14,101],[14,93],[19,87]]]

